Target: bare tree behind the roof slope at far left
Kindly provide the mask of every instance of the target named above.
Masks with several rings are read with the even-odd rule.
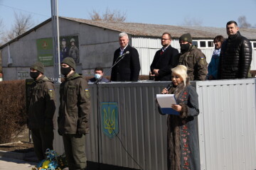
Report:
[[[15,21],[11,30],[6,31],[4,35],[1,36],[1,42],[8,42],[13,40],[19,35],[26,33],[33,26],[31,14],[26,15],[23,13],[14,13]]]

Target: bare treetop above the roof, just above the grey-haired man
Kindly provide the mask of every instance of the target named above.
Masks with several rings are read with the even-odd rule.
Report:
[[[90,14],[90,19],[92,21],[114,21],[114,22],[124,22],[127,18],[126,13],[121,13],[120,11],[114,10],[110,11],[108,8],[102,16],[97,11],[93,10]]]

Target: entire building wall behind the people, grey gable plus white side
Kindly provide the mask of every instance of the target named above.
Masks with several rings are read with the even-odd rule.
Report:
[[[119,31],[107,30],[60,18],[60,36],[78,35],[80,62],[82,63],[81,73],[85,76],[92,76],[95,67],[103,67],[106,72],[112,66],[114,50],[119,47],[118,34]],[[9,47],[4,47],[1,50],[4,80],[18,79],[18,71],[29,70],[31,64],[38,61],[36,40],[50,38],[51,36],[52,25],[49,22],[16,42],[12,42]],[[132,35],[129,35],[129,39],[129,43],[137,48],[139,52],[140,74],[148,75],[155,52],[161,48],[161,39]],[[211,40],[206,39],[206,41]],[[180,50],[178,39],[172,40],[171,45]],[[206,55],[206,60],[209,63],[213,47],[205,47],[201,48],[201,50]],[[11,65],[8,65],[9,51],[12,59]],[[256,69],[255,55],[256,50],[253,52],[252,70]],[[106,75],[110,75],[110,73]],[[53,78],[53,67],[46,67],[45,74]]]

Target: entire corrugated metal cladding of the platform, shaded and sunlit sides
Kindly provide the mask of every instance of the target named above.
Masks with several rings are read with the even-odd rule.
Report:
[[[155,102],[156,94],[167,84],[154,81],[90,84],[88,161],[132,169],[167,169],[166,116],[159,115]],[[255,79],[194,81],[193,86],[199,96],[201,169],[256,169]],[[118,103],[117,137],[103,134],[97,100]],[[56,131],[54,148],[62,153],[62,139],[57,134]]]

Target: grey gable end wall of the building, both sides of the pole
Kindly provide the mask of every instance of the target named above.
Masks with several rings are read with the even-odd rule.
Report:
[[[12,64],[9,65],[8,46],[1,50],[4,80],[18,79],[17,72],[29,70],[38,61],[36,40],[52,36],[51,22],[18,39],[9,45]],[[114,50],[119,47],[117,31],[88,26],[60,18],[60,36],[78,35],[80,62],[82,69],[95,67],[109,68],[112,65]],[[85,72],[83,72],[85,73]],[[53,77],[53,67],[46,67],[46,76]]]

